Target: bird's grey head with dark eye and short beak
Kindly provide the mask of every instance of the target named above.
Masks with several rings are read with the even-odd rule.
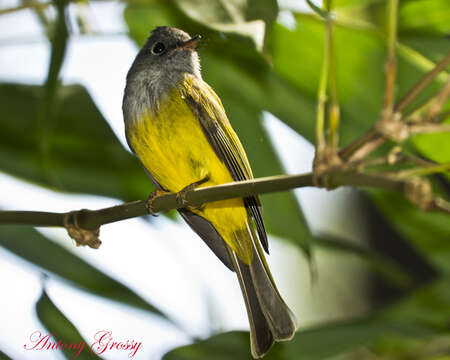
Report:
[[[155,28],[128,72],[124,107],[145,104],[157,109],[161,98],[186,73],[201,78],[199,39],[169,26]]]

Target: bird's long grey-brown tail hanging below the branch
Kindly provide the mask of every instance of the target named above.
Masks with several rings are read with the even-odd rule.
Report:
[[[249,265],[241,261],[231,248],[228,250],[247,308],[252,355],[260,358],[274,341],[292,339],[295,318],[275,286],[251,225],[249,230],[246,233],[253,237],[253,259]]]

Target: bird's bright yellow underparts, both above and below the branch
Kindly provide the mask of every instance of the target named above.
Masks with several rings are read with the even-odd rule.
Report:
[[[234,181],[203,133],[179,91],[173,90],[157,114],[147,113],[128,129],[129,140],[145,168],[166,190],[179,192],[208,176],[203,186]],[[241,260],[252,256],[248,215],[242,199],[206,203],[190,209],[208,220]]]

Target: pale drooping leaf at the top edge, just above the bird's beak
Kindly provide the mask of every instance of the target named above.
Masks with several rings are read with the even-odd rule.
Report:
[[[191,19],[211,29],[252,39],[261,51],[266,28],[278,14],[276,0],[175,0]]]

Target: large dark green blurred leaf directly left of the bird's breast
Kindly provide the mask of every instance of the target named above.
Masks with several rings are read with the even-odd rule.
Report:
[[[79,85],[64,86],[56,95],[43,166],[36,136],[43,91],[0,84],[0,170],[59,191],[125,201],[146,198],[151,182]]]

